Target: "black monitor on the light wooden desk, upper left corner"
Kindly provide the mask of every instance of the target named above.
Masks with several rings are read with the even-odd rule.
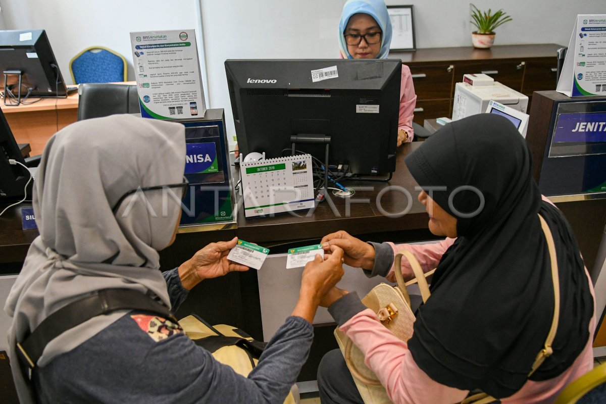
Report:
[[[21,97],[65,97],[67,88],[44,30],[0,31],[0,88],[4,72],[8,89],[17,96],[21,72]]]

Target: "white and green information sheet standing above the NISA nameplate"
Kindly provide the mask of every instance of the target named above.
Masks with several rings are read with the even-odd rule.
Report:
[[[141,115],[204,118],[206,105],[194,30],[130,33]]]

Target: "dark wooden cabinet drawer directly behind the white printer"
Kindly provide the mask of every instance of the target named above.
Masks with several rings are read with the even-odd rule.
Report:
[[[484,73],[494,81],[498,81],[512,90],[522,90],[522,79],[524,78],[524,64],[522,61],[486,61],[465,62],[454,65],[454,82],[462,82],[463,75],[468,73]],[[453,89],[454,94],[454,89]]]

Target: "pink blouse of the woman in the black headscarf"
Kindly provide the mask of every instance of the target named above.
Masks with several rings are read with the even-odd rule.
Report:
[[[398,251],[408,250],[415,254],[421,268],[425,272],[435,268],[442,254],[454,242],[454,239],[445,239],[439,243],[410,245],[393,245],[394,254]],[[414,274],[406,260],[402,260],[402,273],[405,278],[412,279]],[[594,296],[593,285],[587,274],[591,296]],[[394,279],[391,268],[387,279]],[[528,380],[513,396],[502,399],[504,404],[552,403],[568,383],[587,373],[593,368],[593,333],[596,326],[595,307],[594,316],[589,325],[589,339],[585,349],[564,373],[554,379],[543,382]],[[467,397],[468,391],[448,387],[435,382],[416,365],[415,360],[408,351],[408,344],[393,335],[381,322],[376,314],[364,310],[351,317],[341,326],[341,331],[355,343],[364,353],[366,365],[375,371],[381,384],[385,386],[387,394],[394,403],[457,403]]]

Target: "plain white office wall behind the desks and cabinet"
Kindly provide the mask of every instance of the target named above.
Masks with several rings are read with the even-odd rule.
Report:
[[[199,1],[199,4],[198,4]],[[225,108],[228,134],[233,118],[225,80],[225,59],[335,58],[336,31],[345,0],[0,0],[5,29],[44,28],[64,76],[80,50],[104,45],[124,55],[133,78],[130,31],[198,28],[201,9],[206,91],[210,108]],[[415,6],[418,48],[470,46],[469,2],[387,0]],[[479,8],[500,8],[513,17],[499,27],[496,44],[567,45],[574,16],[606,13],[605,0],[473,0]],[[203,66],[204,68],[204,66]],[[68,78],[65,78],[68,80]]]

